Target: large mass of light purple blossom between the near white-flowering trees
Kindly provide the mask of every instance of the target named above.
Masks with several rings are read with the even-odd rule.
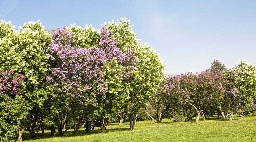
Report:
[[[106,63],[115,60],[119,65],[125,66],[122,71],[123,78],[131,75],[134,65],[137,63],[135,53],[127,50],[126,53],[117,48],[117,42],[111,30],[107,27],[101,29],[101,38],[98,47],[75,48],[71,33],[65,28],[57,28],[52,33],[51,71],[46,78],[48,83],[53,84],[52,99],[59,94],[71,93],[71,97],[88,95],[96,97],[107,92],[106,74],[103,73]],[[111,64],[110,64],[111,65]],[[87,97],[86,97],[87,96]],[[104,98],[104,95],[102,96]],[[79,101],[88,102],[87,99]]]

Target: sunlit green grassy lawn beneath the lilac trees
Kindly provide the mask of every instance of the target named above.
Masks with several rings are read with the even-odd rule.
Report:
[[[157,125],[159,125],[157,127]],[[154,127],[153,127],[154,126]],[[49,130],[45,131],[46,137],[50,137]],[[58,135],[58,134],[57,134]],[[204,141],[204,142],[236,142],[256,141],[256,117],[235,117],[233,121],[228,119],[211,118],[199,120],[199,123],[172,122],[163,119],[163,123],[156,124],[153,121],[138,121],[135,130],[129,130],[129,123],[112,123],[107,126],[106,133],[100,133],[99,128],[86,134],[81,128],[77,136],[72,136],[72,130],[67,131],[62,137],[29,140],[27,131],[23,139],[29,142],[98,142],[98,141]]]

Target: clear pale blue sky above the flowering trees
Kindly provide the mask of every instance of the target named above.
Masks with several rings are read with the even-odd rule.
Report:
[[[131,19],[137,38],[155,48],[165,71],[210,68],[213,59],[232,67],[256,65],[256,0],[0,0],[0,19],[18,27],[41,20],[47,29]]]

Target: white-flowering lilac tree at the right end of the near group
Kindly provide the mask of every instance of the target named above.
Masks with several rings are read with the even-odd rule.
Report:
[[[135,70],[130,72],[129,79],[123,81],[123,99],[119,108],[127,111],[130,121],[130,129],[135,126],[137,112],[144,108],[149,102],[149,96],[156,91],[160,80],[163,78],[163,65],[158,54],[148,45],[140,45],[135,38],[133,25],[130,20],[120,20],[104,23],[108,29],[113,31],[117,41],[117,48],[124,53],[134,52],[137,60]],[[130,51],[129,51],[130,50]],[[122,102],[122,103],[121,103]]]

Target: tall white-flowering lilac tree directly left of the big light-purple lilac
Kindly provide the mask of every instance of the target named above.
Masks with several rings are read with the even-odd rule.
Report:
[[[28,101],[30,108],[26,127],[32,137],[37,135],[34,130],[37,127],[37,121],[44,119],[39,111],[45,109],[43,104],[47,98],[45,82],[49,67],[47,62],[50,43],[50,33],[38,21],[25,23],[23,28],[19,27],[13,40],[13,44],[17,46],[16,52],[20,53],[22,59],[21,74],[26,77],[24,98]]]

